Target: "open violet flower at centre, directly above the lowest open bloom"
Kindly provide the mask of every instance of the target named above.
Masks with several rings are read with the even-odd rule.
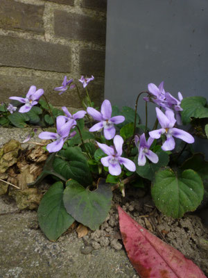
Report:
[[[125,120],[125,117],[123,116],[111,117],[112,106],[107,99],[105,99],[101,105],[101,112],[96,111],[96,109],[92,107],[87,107],[87,113],[91,115],[94,120],[99,121],[97,124],[94,124],[89,131],[94,132],[104,129],[104,136],[107,140],[114,138],[116,134],[114,124],[121,124],[121,122]]]

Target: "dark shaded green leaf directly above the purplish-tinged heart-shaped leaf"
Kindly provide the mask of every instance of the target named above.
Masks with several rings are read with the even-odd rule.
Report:
[[[83,185],[92,184],[87,159],[78,147],[67,147],[58,152],[53,161],[53,169],[65,179],[75,179]]]

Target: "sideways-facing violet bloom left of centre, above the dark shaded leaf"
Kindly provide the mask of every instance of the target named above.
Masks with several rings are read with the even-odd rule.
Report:
[[[46,149],[49,152],[59,152],[60,149],[62,149],[65,140],[67,140],[69,136],[69,132],[71,127],[73,126],[73,121],[66,122],[66,119],[64,116],[58,116],[56,118],[56,126],[57,126],[57,133],[49,132],[49,131],[43,131],[39,134],[40,139],[55,139],[52,143],[48,144]],[[70,134],[70,138],[76,135],[76,131],[73,131]]]

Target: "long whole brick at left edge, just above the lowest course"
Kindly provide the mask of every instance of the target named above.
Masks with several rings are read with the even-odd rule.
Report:
[[[70,72],[71,49],[60,44],[0,35],[0,65]]]

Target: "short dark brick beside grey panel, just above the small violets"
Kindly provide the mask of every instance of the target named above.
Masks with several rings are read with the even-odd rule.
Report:
[[[103,75],[105,52],[94,49],[80,49],[80,72],[87,75]]]

